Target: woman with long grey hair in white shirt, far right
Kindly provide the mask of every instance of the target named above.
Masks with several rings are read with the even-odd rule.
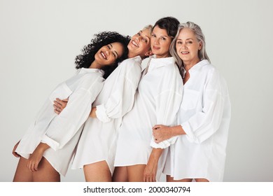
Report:
[[[230,124],[228,87],[210,63],[198,25],[181,24],[171,48],[185,73],[178,125],[153,127],[158,143],[177,137],[164,169],[167,181],[223,181]]]

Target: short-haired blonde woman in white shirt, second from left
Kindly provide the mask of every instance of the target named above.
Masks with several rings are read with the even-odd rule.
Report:
[[[127,45],[128,59],[118,65],[104,82],[104,87],[92,105],[85,122],[72,169],[83,168],[85,181],[111,181],[118,128],[123,116],[132,109],[141,78],[141,61],[152,55],[151,29],[148,25],[132,36]],[[114,176],[124,181],[126,173]]]

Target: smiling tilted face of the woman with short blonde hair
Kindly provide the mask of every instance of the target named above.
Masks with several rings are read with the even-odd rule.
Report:
[[[151,34],[149,29],[143,29],[132,36],[130,43],[127,45],[129,57],[140,55],[143,59],[151,48]]]

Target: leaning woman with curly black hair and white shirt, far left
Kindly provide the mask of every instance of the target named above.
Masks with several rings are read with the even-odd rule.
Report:
[[[65,176],[92,103],[104,78],[127,58],[130,39],[117,32],[96,34],[76,57],[76,75],[58,85],[46,100],[27,134],[13,148],[20,157],[13,181],[60,181]],[[53,102],[69,97],[59,115]]]

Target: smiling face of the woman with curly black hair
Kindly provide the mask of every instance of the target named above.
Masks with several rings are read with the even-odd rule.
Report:
[[[94,55],[94,62],[96,62],[99,67],[111,65],[116,62],[116,59],[123,55],[123,49],[123,45],[119,42],[104,45]]]

